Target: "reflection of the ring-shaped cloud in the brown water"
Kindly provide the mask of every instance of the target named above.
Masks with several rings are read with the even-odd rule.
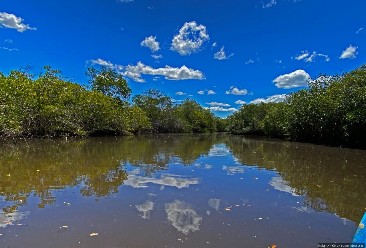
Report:
[[[199,230],[202,217],[184,201],[175,200],[165,203],[165,212],[168,214],[168,221],[178,232],[188,235],[190,232]]]

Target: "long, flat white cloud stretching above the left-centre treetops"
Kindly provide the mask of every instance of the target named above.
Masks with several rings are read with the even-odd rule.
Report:
[[[141,78],[141,74],[144,75],[157,75],[164,76],[168,80],[184,80],[184,79],[199,79],[202,80],[204,75],[199,70],[187,68],[183,65],[182,67],[170,67],[165,65],[163,68],[152,68],[149,65],[143,64],[141,61],[137,65],[127,65],[122,72],[123,76],[130,77],[136,82],[146,82],[145,79]]]

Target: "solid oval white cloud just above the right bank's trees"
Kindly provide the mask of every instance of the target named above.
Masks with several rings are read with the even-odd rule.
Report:
[[[277,88],[292,89],[306,86],[306,80],[309,78],[310,75],[305,70],[295,70],[294,72],[276,77],[272,82],[276,83]]]

